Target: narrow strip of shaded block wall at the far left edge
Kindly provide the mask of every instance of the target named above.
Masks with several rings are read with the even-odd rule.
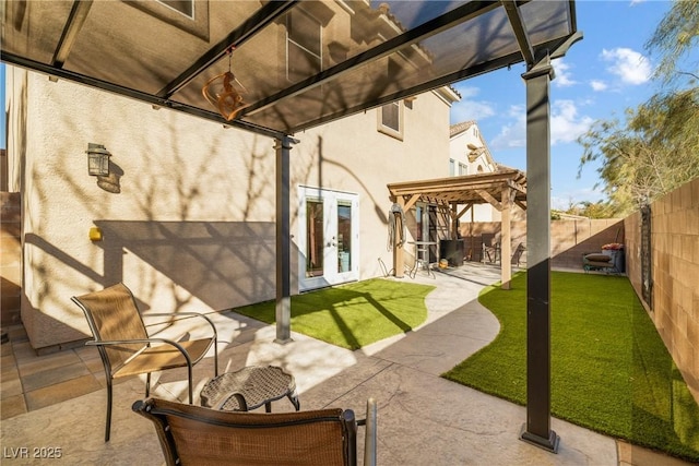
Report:
[[[20,324],[22,297],[22,247],[20,193],[0,192],[0,325],[7,328]]]

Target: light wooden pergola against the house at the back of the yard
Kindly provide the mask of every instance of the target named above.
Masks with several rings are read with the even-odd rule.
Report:
[[[458,237],[459,218],[475,204],[489,203],[501,213],[501,256],[512,254],[510,218],[512,205],[526,210],[526,176],[517,169],[502,169],[493,174],[465,175],[420,181],[405,181],[388,184],[391,202],[407,212],[415,203],[437,205],[450,219],[450,236]],[[395,222],[390,218],[389,222]],[[393,242],[393,270],[395,276],[403,277],[405,264],[403,243],[396,236]],[[510,288],[512,265],[501,260],[502,288]]]

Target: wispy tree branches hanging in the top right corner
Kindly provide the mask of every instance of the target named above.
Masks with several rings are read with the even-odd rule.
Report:
[[[657,51],[662,59],[654,77],[664,83],[676,82],[688,76],[689,83],[699,81],[697,61],[686,63],[688,70],[677,69],[680,58],[699,47],[699,0],[679,0],[673,3],[667,15],[660,22],[653,36],[645,43],[650,52]]]

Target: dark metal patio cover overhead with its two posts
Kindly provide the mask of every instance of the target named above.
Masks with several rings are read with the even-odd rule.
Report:
[[[530,319],[522,439],[556,450],[548,386],[548,86],[550,59],[582,38],[572,0],[15,0],[0,11],[7,63],[277,140],[281,342],[289,335],[291,135],[524,62]],[[247,105],[230,121],[202,95],[228,70]]]

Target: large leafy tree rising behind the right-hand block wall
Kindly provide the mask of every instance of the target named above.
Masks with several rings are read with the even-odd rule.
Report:
[[[596,121],[578,142],[580,168],[601,160],[604,191],[620,214],[699,177],[699,87],[659,94],[626,121]]]

